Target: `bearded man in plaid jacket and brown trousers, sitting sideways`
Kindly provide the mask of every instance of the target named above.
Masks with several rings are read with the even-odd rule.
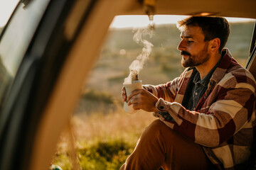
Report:
[[[134,109],[154,112],[121,169],[239,169],[250,157],[255,79],[223,49],[230,33],[220,17],[191,16],[181,30],[180,77],[126,96]]]

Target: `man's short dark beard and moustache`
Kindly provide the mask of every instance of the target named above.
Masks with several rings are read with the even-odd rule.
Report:
[[[189,52],[181,51],[181,55],[187,55],[188,58],[184,60],[181,59],[181,64],[183,67],[196,67],[198,65],[201,65],[205,62],[208,62],[210,55],[207,52],[208,44],[203,47],[203,50],[201,52],[198,52],[198,55],[191,55]]]

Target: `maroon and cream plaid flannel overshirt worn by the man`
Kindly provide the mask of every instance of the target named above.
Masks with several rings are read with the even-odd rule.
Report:
[[[159,98],[156,108],[174,118],[160,118],[169,128],[201,145],[219,169],[235,169],[250,157],[256,84],[228,49],[223,50],[223,55],[195,111],[181,106],[193,69],[185,69],[167,84],[144,88]]]

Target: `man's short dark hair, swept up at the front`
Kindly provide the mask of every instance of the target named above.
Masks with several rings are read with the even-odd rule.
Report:
[[[230,34],[230,26],[228,21],[223,17],[215,16],[189,16],[188,18],[178,21],[178,28],[182,30],[186,26],[199,26],[203,30],[205,41],[220,38],[219,52],[223,50],[228,35]]]

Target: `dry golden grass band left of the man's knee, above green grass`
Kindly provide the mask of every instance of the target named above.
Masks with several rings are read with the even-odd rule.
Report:
[[[118,138],[137,141],[142,130],[155,118],[151,113],[138,111],[125,113],[119,108],[114,113],[79,114],[73,117],[73,129],[77,141],[90,142]]]

